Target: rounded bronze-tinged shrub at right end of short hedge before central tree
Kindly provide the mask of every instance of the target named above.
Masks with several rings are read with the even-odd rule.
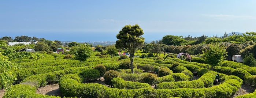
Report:
[[[157,83],[157,75],[153,73],[142,73],[142,82],[150,85]]]

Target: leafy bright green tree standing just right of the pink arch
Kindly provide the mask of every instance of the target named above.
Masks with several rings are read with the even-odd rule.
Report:
[[[212,69],[219,65],[225,59],[226,55],[226,47],[219,45],[218,43],[209,44],[209,49],[203,52],[205,62],[210,64]]]

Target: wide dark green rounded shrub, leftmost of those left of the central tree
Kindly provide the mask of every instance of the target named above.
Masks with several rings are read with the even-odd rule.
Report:
[[[82,82],[87,83],[90,80],[96,80],[100,77],[100,72],[97,69],[88,69],[79,73]]]

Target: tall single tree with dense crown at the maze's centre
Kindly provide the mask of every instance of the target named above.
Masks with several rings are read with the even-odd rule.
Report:
[[[119,34],[116,35],[118,39],[115,44],[116,48],[125,49],[130,53],[131,73],[133,73],[134,53],[144,44],[144,38],[141,37],[143,34],[144,32],[140,26],[135,24],[133,26],[126,25],[119,31]]]

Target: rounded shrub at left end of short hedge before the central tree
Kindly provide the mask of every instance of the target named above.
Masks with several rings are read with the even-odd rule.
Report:
[[[112,86],[111,80],[112,80],[113,78],[120,77],[120,73],[117,72],[117,71],[110,70],[110,71],[107,71],[107,72],[104,74],[103,77],[104,77],[104,82],[105,82],[106,84]]]

